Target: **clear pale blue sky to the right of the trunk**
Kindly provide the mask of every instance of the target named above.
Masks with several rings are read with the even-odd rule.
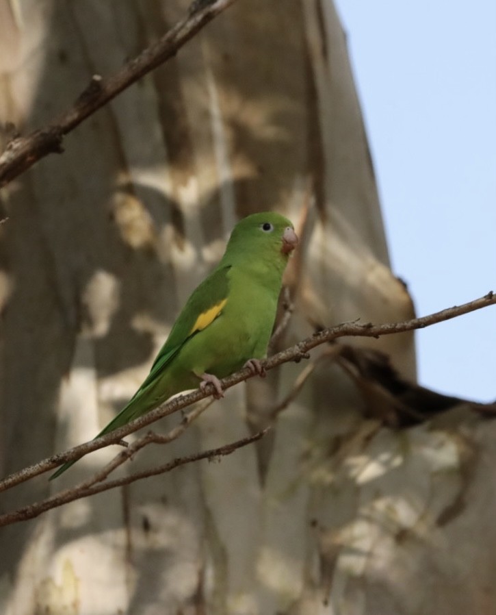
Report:
[[[496,292],[496,1],[336,4],[394,273],[419,316]],[[496,399],[496,307],[416,336],[421,384]]]

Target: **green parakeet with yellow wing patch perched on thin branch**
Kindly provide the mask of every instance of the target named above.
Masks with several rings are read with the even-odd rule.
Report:
[[[187,300],[148,377],[96,438],[198,383],[213,384],[215,397],[222,397],[220,378],[243,366],[261,373],[283,273],[297,244],[293,225],[280,214],[252,214],[237,223],[222,260]]]

